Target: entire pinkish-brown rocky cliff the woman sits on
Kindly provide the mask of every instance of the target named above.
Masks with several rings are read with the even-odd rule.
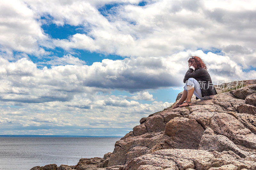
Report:
[[[256,170],[256,80],[215,87],[213,99],[143,117],[104,158],[31,170]],[[232,87],[230,89],[230,87]],[[233,89],[233,90],[232,90]]]

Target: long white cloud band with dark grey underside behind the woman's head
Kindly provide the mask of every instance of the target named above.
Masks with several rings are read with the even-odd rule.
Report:
[[[80,93],[106,93],[117,89],[138,92],[130,98],[132,100],[153,100],[145,90],[183,85],[189,55],[201,56],[213,82],[252,79],[255,75],[255,71],[244,72],[229,56],[204,54],[201,50],[188,50],[168,57],[104,59],[90,66],[66,55],[61,60],[51,60],[52,64],[58,65],[51,69],[38,69],[27,58],[16,62],[0,58],[0,99],[21,103],[65,102]]]

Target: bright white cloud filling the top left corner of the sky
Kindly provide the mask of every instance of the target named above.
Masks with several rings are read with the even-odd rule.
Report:
[[[1,50],[8,49],[42,55],[46,52],[38,46],[47,41],[41,24],[36,21],[27,4],[19,0],[3,0],[0,3],[0,45]]]

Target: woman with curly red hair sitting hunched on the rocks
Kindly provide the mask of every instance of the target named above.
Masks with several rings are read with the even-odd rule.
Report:
[[[173,108],[190,106],[193,94],[195,94],[196,99],[200,100],[212,99],[217,94],[207,67],[200,57],[191,56],[188,60],[188,67],[189,69],[183,79],[183,82],[186,83],[183,87],[183,94]]]

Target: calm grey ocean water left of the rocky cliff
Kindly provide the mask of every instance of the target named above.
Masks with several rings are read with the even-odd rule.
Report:
[[[0,169],[29,170],[47,164],[76,165],[103,158],[121,137],[0,137]]]

